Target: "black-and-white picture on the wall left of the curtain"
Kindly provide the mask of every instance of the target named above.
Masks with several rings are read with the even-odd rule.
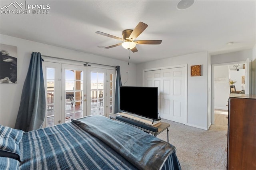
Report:
[[[0,44],[0,83],[17,83],[17,47]]]

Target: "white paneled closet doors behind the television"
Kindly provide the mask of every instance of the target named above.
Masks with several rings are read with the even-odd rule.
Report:
[[[186,75],[186,67],[145,71],[145,86],[158,87],[161,118],[186,124]]]

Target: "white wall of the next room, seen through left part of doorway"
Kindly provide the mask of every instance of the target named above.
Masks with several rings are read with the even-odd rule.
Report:
[[[228,110],[229,74],[228,65],[214,67],[214,109]]]

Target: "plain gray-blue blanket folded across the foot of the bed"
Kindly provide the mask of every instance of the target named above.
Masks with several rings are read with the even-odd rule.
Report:
[[[139,169],[159,170],[175,152],[170,143],[104,116],[88,116],[72,122],[108,144]]]

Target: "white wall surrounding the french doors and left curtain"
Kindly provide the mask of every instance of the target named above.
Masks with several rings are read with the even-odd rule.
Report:
[[[121,79],[124,83],[129,72],[129,79],[126,85],[136,85],[136,65],[127,62],[109,59],[98,55],[92,55],[71,49],[47,45],[44,43],[32,42],[24,39],[14,38],[0,34],[0,43],[17,46],[17,84],[0,84],[0,125],[14,127],[20,105],[20,97],[23,84],[28,71],[30,56],[33,51],[42,55],[88,61],[105,65],[120,65]]]

